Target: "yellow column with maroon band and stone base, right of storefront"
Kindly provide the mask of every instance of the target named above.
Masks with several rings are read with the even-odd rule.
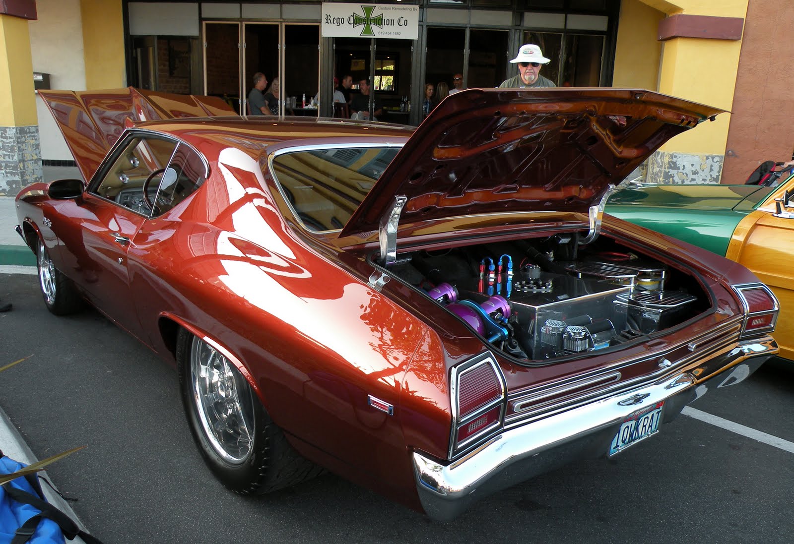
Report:
[[[730,112],[748,0],[642,0],[664,10],[659,91]],[[647,163],[647,181],[717,183],[723,170],[730,113],[669,140]]]

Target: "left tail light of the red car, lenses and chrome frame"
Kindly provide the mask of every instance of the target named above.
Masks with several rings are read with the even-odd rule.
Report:
[[[503,427],[507,389],[493,356],[483,354],[452,370],[453,408],[449,457],[453,458]]]

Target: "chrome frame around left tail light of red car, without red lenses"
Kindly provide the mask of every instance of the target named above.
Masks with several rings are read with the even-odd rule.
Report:
[[[488,400],[485,404],[477,406],[472,412],[461,414],[461,378],[465,374],[480,368],[481,366],[488,365],[491,367],[496,381],[499,385],[499,394],[492,400]],[[477,355],[475,358],[454,366],[451,370],[449,379],[449,394],[450,406],[452,409],[452,427],[449,434],[449,459],[460,457],[461,454],[472,450],[475,446],[479,445],[484,440],[491,438],[491,436],[498,434],[504,428],[504,418],[507,412],[507,384],[504,379],[504,374],[496,363],[496,359],[487,351],[483,354]],[[469,435],[461,442],[457,441],[457,437],[461,428],[467,424],[472,423],[476,419],[488,414],[495,407],[499,407],[499,417],[496,421],[486,425],[482,429]]]

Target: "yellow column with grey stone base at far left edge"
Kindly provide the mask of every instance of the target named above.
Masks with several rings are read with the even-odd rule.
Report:
[[[8,4],[0,2],[0,196],[43,178],[28,32],[36,6],[15,2],[17,13],[9,13]]]

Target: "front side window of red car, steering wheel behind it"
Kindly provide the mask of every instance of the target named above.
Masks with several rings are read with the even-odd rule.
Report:
[[[176,147],[177,143],[172,140],[131,138],[89,192],[148,216],[152,209],[150,203],[160,185],[160,174],[168,166]]]

